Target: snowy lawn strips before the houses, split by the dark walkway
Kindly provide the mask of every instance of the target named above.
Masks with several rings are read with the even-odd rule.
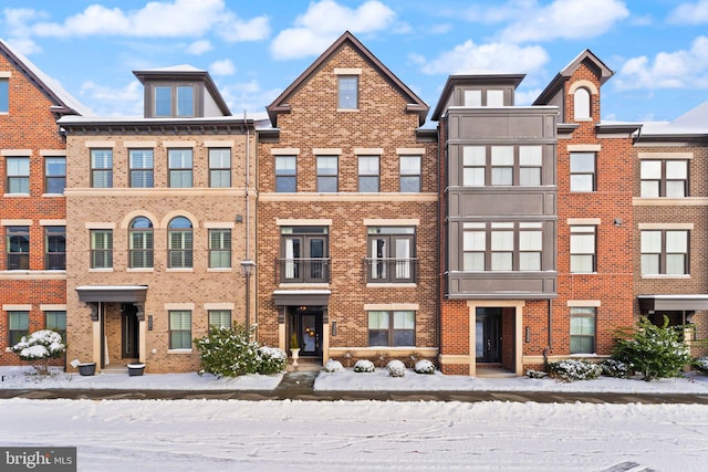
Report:
[[[273,390],[282,374],[247,375],[218,379],[210,374],[145,374],[129,377],[127,374],[97,374],[82,377],[52,370],[46,377],[35,375],[31,367],[0,367],[0,389],[137,389],[137,390]],[[601,377],[596,380],[561,382],[553,379],[473,378],[416,374],[408,369],[404,377],[391,377],[385,369],[374,373],[354,373],[353,369],[332,374],[320,373],[314,386],[321,391],[566,391],[566,392],[620,392],[620,394],[701,394],[708,395],[708,376],[690,373],[686,377],[643,381]]]

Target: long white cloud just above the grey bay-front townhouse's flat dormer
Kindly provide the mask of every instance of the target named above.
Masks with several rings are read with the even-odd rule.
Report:
[[[541,46],[489,43],[475,44],[471,40],[442,52],[433,61],[423,62],[421,56],[410,56],[421,64],[426,74],[454,74],[467,70],[492,70],[500,72],[532,72],[543,67],[549,54]]]

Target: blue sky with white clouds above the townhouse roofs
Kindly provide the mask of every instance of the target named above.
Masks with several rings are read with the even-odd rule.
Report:
[[[584,49],[615,72],[606,120],[674,119],[708,99],[708,0],[3,0],[0,35],[98,115],[139,115],[132,71],[208,70],[260,113],[345,30],[430,107],[450,73],[527,74],[530,104]]]

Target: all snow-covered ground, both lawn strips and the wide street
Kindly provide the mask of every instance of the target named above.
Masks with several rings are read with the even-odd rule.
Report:
[[[6,375],[0,388],[166,389],[178,384],[184,389],[235,388],[196,374],[70,379],[61,374],[41,382],[17,369],[0,368],[0,375]],[[268,389],[279,379],[252,376],[228,381],[243,382],[236,388]],[[493,385],[503,385],[498,388],[503,390],[516,385],[517,389],[708,392],[704,376],[693,381],[608,380],[569,385],[345,371],[321,375],[317,388],[429,390],[435,382],[448,390]],[[691,472],[708,468],[706,438],[708,406],[700,405],[0,400],[0,445],[76,447],[80,471],[586,472],[624,464],[618,470]]]

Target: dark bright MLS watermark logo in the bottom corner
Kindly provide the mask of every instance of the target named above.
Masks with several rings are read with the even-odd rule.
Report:
[[[1,448],[0,471],[76,472],[76,448]]]

